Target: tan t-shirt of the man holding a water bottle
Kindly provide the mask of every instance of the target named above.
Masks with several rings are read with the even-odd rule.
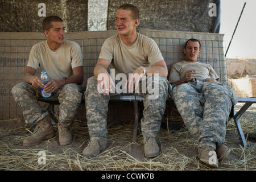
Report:
[[[81,48],[70,40],[64,40],[56,51],[49,48],[46,40],[35,44],[27,63],[27,67],[46,69],[48,77],[52,79],[69,77],[73,75],[72,68],[82,65]]]

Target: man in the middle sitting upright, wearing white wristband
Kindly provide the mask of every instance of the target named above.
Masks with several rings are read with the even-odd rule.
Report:
[[[152,85],[159,94],[155,99],[150,99],[152,93],[144,93],[144,111],[141,119],[142,135],[144,140],[144,154],[147,158],[153,158],[160,154],[156,137],[160,129],[162,115],[166,107],[169,83],[167,81],[167,67],[163,56],[154,42],[144,35],[137,33],[139,25],[139,11],[133,5],[122,5],[115,14],[115,26],[117,35],[105,40],[101,48],[100,56],[94,76],[87,81],[85,92],[85,106],[90,142],[84,148],[82,155],[93,157],[106,148],[108,143],[108,130],[106,129],[106,117],[110,94],[115,93],[114,78],[122,77],[125,82],[122,93],[131,93],[137,88],[142,88],[140,81],[143,78],[149,80],[154,75]],[[108,73],[108,67],[114,68]],[[112,76],[112,77],[110,77]],[[150,77],[150,78],[152,78]],[[142,88],[143,89],[143,88]],[[127,92],[126,92],[127,91]],[[154,97],[152,97],[154,98]]]

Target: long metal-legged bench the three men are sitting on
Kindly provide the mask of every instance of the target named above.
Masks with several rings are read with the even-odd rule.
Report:
[[[46,110],[49,111],[54,121],[57,121],[57,118],[55,118],[54,114],[52,114],[52,105],[59,105],[59,100],[57,96],[51,96],[48,98],[40,97],[38,101],[47,102]],[[134,123],[133,123],[133,137],[132,140],[134,142],[137,141],[137,131],[138,131],[138,123],[139,123],[139,106],[138,102],[143,101],[142,96],[111,96],[110,101],[132,101],[134,104]],[[171,99],[168,99],[167,101],[172,101]],[[82,100],[81,103],[84,103],[85,101]],[[245,105],[241,107],[241,109],[236,113],[236,110],[234,109],[234,105],[232,106],[232,110],[230,112],[229,118],[233,118],[234,122],[237,127],[237,133],[240,137],[241,144],[243,147],[247,146],[245,135],[243,134],[242,127],[239,122],[239,118],[241,115],[253,104],[256,103],[256,98],[238,98],[238,102],[245,102]],[[165,116],[163,116],[164,119]],[[163,121],[162,119],[162,121]]]

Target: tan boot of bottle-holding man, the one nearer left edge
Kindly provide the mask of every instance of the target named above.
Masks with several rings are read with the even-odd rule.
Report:
[[[55,132],[53,130],[53,126],[51,123],[51,117],[49,114],[44,117],[42,120],[36,123],[38,125],[38,130],[30,137],[27,137],[23,140],[24,147],[34,146],[35,144],[39,144],[44,139],[50,139],[54,137]]]

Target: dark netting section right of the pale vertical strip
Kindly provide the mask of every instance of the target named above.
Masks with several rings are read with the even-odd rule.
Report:
[[[109,0],[108,30],[114,30],[115,11],[124,3],[131,3],[140,11],[142,30],[171,30],[212,32],[214,16],[210,17],[209,3],[213,0]]]

